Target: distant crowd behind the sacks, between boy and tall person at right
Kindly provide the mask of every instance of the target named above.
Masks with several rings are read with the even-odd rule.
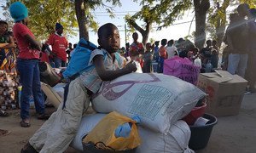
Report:
[[[154,43],[147,42],[144,46],[142,42],[137,42],[137,32],[132,36],[131,45],[129,42],[126,43],[125,48],[121,48],[119,53],[126,59],[131,57],[139,62],[144,73],[163,73],[164,61],[175,56],[188,58],[191,62],[194,62],[196,58],[201,59],[201,72],[212,72],[218,68],[219,49],[216,40],[207,40],[207,46],[200,50],[195,47],[193,42],[183,38],[179,38],[177,41],[162,39]],[[207,69],[209,64],[211,67]]]

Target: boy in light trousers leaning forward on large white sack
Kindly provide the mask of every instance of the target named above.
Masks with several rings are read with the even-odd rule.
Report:
[[[84,71],[70,82],[67,98],[61,103],[47,122],[32,136],[21,152],[63,152],[67,150],[77,133],[81,118],[90,104],[90,95],[96,94],[102,81],[111,81],[117,77],[137,71],[131,62],[119,69],[119,61],[115,52],[120,45],[119,31],[111,23],[101,26],[98,30],[100,49],[91,52],[90,64],[95,68]]]

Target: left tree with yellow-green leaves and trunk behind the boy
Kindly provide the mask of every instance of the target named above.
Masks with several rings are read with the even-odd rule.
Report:
[[[7,0],[3,6],[7,17],[9,14],[9,5],[16,0]],[[60,22],[64,26],[68,35],[74,35],[74,28],[79,26],[79,37],[89,40],[89,28],[97,30],[97,23],[90,10],[97,7],[105,7],[111,14],[112,7],[108,7],[101,0],[21,0],[29,11],[30,24],[32,32],[40,40],[45,40],[49,34],[55,31],[55,23]],[[112,3],[113,6],[121,5],[119,0],[106,0],[106,3]]]

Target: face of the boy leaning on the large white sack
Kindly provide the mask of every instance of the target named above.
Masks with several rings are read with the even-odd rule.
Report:
[[[108,53],[118,51],[120,47],[119,30],[112,27],[110,30],[105,29],[102,32],[102,37],[99,38],[99,44],[102,48],[106,49]]]

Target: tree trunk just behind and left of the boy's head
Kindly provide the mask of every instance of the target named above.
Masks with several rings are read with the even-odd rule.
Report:
[[[89,40],[89,20],[85,12],[89,8],[85,5],[84,0],[75,0],[76,16],[79,23],[79,37]]]

